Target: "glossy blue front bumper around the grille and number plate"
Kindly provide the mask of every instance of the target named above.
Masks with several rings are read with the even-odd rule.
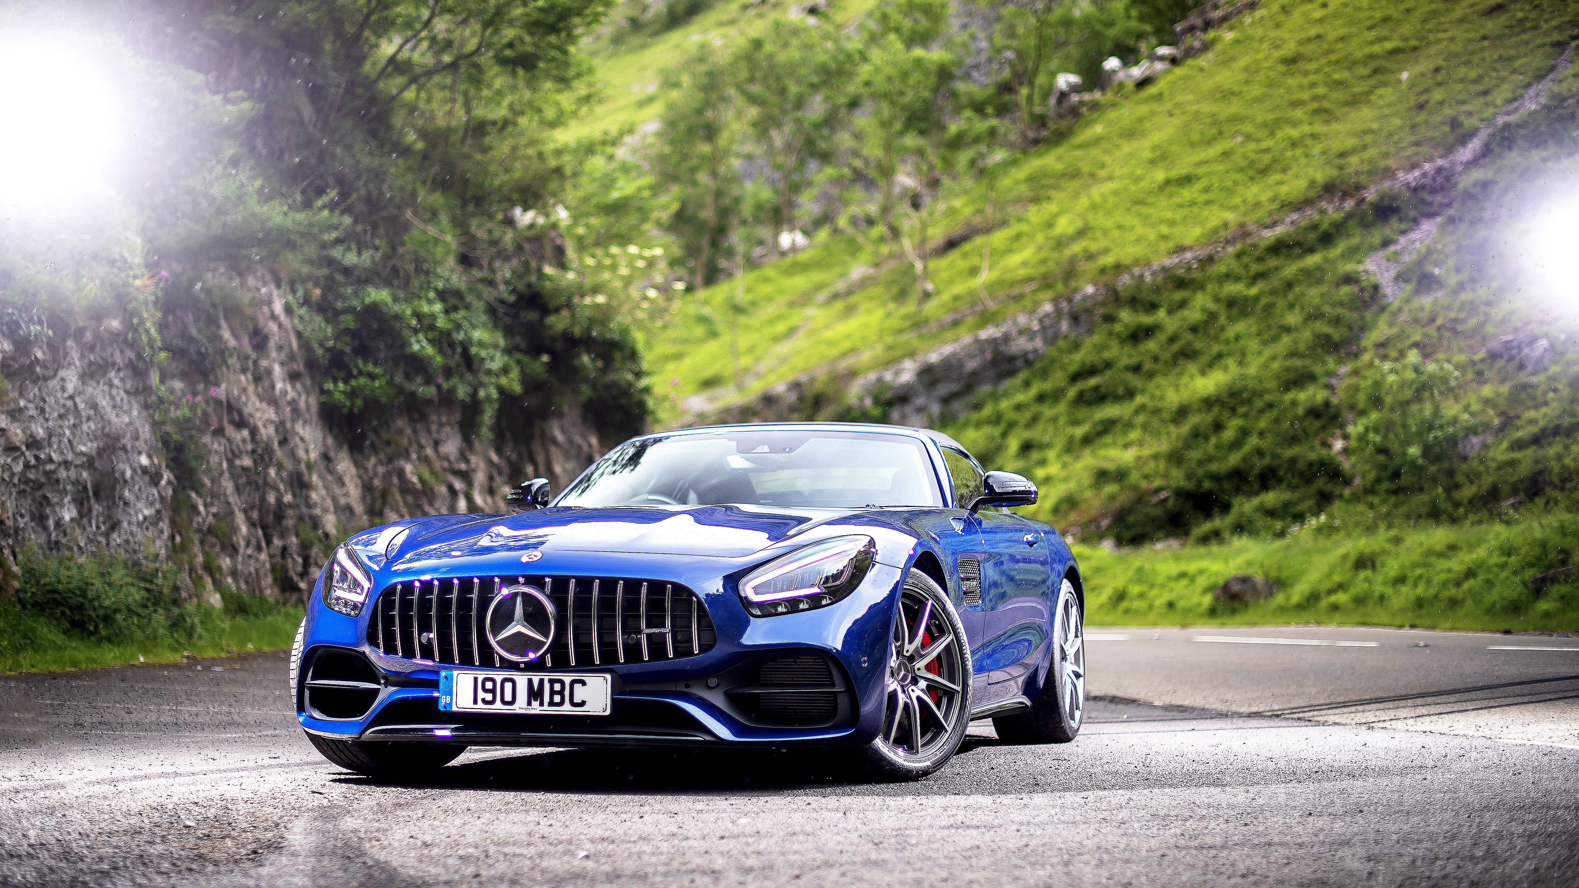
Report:
[[[369,668],[347,684],[357,684],[352,690],[371,705],[354,717],[327,717],[330,713],[314,706],[305,687],[297,687],[297,721],[311,733],[343,739],[561,747],[859,744],[880,730],[892,607],[903,580],[900,567],[878,563],[845,600],[767,618],[745,613],[733,577],[750,564],[729,559],[554,553],[534,567],[557,575],[624,572],[685,585],[703,599],[717,645],[679,660],[548,672],[611,675],[608,716],[447,713],[439,709],[439,673],[455,667],[395,657],[373,648],[366,634],[374,608],[347,618],[324,607],[321,589],[314,589],[298,681],[306,683],[314,664],[330,654],[354,656]],[[772,692],[761,687],[763,664],[785,659],[826,662],[831,684],[818,690],[837,700],[826,721],[804,725],[772,724],[774,717],[763,717],[767,706],[763,694]],[[785,700],[778,697],[775,705],[782,709]],[[333,714],[347,713],[341,708]]]

